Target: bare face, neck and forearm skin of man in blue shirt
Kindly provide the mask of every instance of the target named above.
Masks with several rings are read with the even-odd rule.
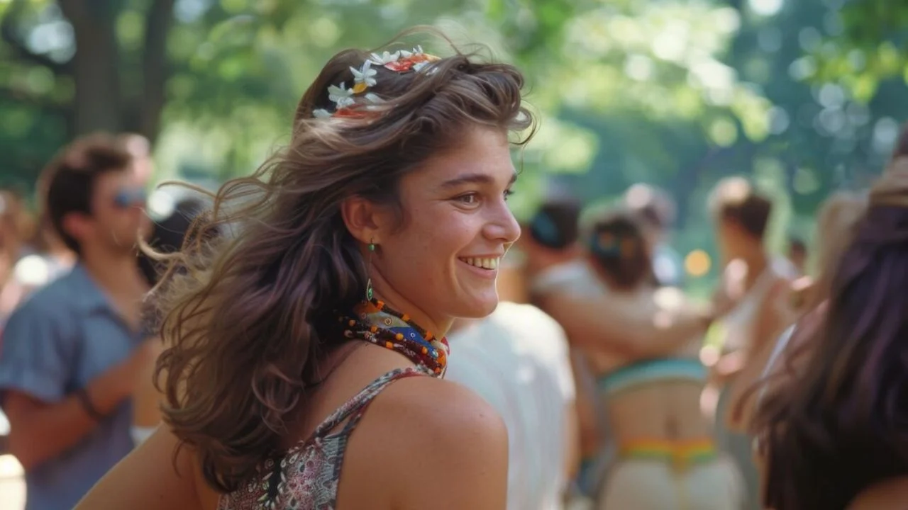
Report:
[[[146,217],[138,206],[126,210],[114,206],[117,192],[132,185],[132,176],[125,170],[100,175],[94,187],[93,214],[70,213],[64,218],[64,229],[84,247],[81,261],[94,282],[120,317],[137,329],[145,286],[135,267],[134,246]],[[152,362],[155,354],[153,345],[146,342],[130,358],[90,381],[85,389],[94,407],[102,414],[113,412],[132,394],[135,373]],[[64,454],[97,427],[74,396],[44,402],[9,390],[3,396],[3,407],[10,422],[10,453],[26,471]]]

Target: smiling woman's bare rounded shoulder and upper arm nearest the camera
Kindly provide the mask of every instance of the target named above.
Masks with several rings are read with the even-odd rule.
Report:
[[[371,437],[360,437],[360,445],[368,441],[370,452],[360,458],[372,459],[373,476],[375,459],[385,459],[380,472],[390,485],[391,508],[507,506],[508,431],[485,400],[466,387],[428,378],[405,379],[386,392],[366,415]],[[341,490],[345,483],[355,481],[341,478]]]

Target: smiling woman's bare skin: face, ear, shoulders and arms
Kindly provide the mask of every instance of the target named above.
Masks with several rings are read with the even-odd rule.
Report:
[[[408,220],[401,229],[394,228],[391,211],[356,197],[344,201],[353,237],[364,247],[380,246],[370,263],[377,296],[437,334],[456,315],[488,315],[498,303],[495,280],[461,259],[503,254],[517,240],[519,227],[505,202],[513,178],[504,133],[477,129],[402,179]],[[293,412],[285,446],[310,436],[372,380],[412,364],[385,348],[347,344],[323,368],[333,365],[331,376]],[[76,508],[216,508],[219,495],[202,480],[192,448],[180,450],[174,471],[176,444],[161,427]],[[454,383],[406,378],[382,391],[351,436],[337,508],[500,510],[507,485],[507,430],[489,404]]]

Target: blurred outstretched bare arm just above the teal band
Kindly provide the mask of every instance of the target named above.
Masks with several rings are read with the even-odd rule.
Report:
[[[712,307],[663,306],[619,293],[581,296],[549,293],[540,304],[579,348],[607,349],[627,358],[652,358],[672,352],[702,335],[716,317]]]

